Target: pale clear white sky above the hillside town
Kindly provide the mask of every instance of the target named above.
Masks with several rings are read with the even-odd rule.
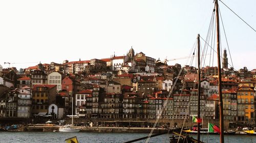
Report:
[[[206,37],[213,2],[0,1],[0,64],[24,63],[11,65],[19,69],[39,61],[110,58],[114,52],[126,54],[131,46],[160,60],[189,56],[197,34]],[[256,29],[255,0],[223,2]],[[234,68],[256,68],[256,32],[219,5]],[[188,60],[168,64],[175,63],[185,65]]]

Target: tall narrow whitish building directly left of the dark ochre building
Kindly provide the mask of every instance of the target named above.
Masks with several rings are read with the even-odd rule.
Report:
[[[31,107],[32,107],[32,89],[30,87],[20,88],[18,93],[17,117],[30,118]]]

